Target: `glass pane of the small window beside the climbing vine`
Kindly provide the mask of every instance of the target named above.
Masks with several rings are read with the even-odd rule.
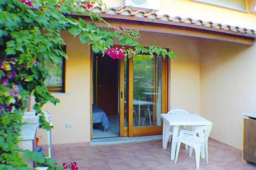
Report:
[[[49,70],[50,77],[45,80],[46,86],[62,86],[62,67],[63,61],[58,63],[44,62],[45,67]]]

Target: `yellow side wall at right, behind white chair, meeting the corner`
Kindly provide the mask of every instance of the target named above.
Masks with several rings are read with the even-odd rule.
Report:
[[[242,149],[243,112],[256,110],[256,45],[200,41],[201,115],[211,137]]]

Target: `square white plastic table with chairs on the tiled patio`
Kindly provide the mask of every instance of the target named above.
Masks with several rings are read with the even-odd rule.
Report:
[[[163,119],[163,141],[165,132],[169,130],[169,126],[173,126],[172,148],[170,149],[170,159],[175,159],[175,151],[179,127],[182,125],[210,125],[211,122],[198,114],[161,114]],[[200,135],[200,134],[199,134]],[[166,148],[164,148],[166,149]],[[203,147],[201,148],[201,157],[204,158]]]

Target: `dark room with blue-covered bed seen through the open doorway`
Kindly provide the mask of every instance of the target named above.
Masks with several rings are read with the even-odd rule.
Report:
[[[118,60],[93,57],[93,138],[119,136]]]

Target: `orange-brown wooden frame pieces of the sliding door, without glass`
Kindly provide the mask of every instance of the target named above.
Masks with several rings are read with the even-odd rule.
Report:
[[[93,68],[93,56],[94,53],[91,51],[91,58],[90,58],[90,65],[91,68]],[[166,113],[168,110],[168,65],[169,65],[169,59],[165,58],[162,59],[162,113]],[[120,60],[120,90],[119,92],[123,92],[124,96],[124,59]],[[128,81],[128,96],[127,99],[133,99],[133,58],[130,58],[127,60],[127,68],[129,70],[127,74],[127,81]],[[123,76],[121,76],[121,74]],[[121,89],[122,88],[122,89]],[[91,119],[91,140],[93,138],[93,125],[92,125],[92,101],[93,101],[93,70],[91,69],[91,90],[90,90],[90,95],[91,95],[91,106],[90,106],[90,119]],[[128,112],[128,126],[124,127],[124,106],[121,105],[124,103],[124,97],[120,99],[120,115],[119,115],[119,134],[120,136],[142,136],[142,135],[155,135],[155,134],[161,134],[162,132],[162,124],[161,126],[155,126],[155,127],[133,127],[133,100],[128,100],[129,103],[127,104],[127,112]],[[148,134],[147,132],[150,131],[151,133]]]

